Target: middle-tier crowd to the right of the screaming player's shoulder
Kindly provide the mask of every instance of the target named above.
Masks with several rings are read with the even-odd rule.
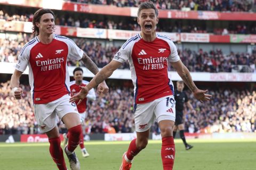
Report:
[[[195,52],[191,49],[178,50],[181,61],[191,72],[231,72],[233,65],[247,65],[251,72],[255,72],[256,53],[223,54],[221,49],[204,52],[199,49]],[[169,70],[173,70],[171,67]],[[241,72],[246,72],[240,70]]]

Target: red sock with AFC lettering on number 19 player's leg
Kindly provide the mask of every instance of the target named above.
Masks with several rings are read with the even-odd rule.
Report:
[[[173,137],[162,138],[161,157],[164,170],[172,170],[175,157],[175,145]]]

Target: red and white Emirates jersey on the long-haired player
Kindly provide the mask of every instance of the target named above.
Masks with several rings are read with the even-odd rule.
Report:
[[[67,58],[82,56],[83,50],[67,37],[53,35],[50,44],[35,37],[22,48],[15,69],[24,72],[28,65],[34,104],[45,104],[70,93]]]

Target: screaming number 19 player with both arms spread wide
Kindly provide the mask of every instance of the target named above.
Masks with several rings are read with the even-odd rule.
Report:
[[[175,121],[175,100],[173,83],[167,72],[167,61],[177,70],[182,80],[196,99],[204,103],[211,98],[207,90],[198,89],[185,65],[180,61],[173,42],[156,34],[158,11],[152,2],[143,2],[138,10],[141,31],[127,40],[114,59],[103,67],[87,86],[70,98],[70,102],[81,101],[88,91],[110,77],[126,60],[129,60],[131,78],[134,84],[134,122],[137,139],[131,141],[123,155],[120,169],[130,169],[133,157],[147,146],[150,127],[156,118],[162,135],[161,157],[164,170],[173,168],[175,146],[173,127]]]

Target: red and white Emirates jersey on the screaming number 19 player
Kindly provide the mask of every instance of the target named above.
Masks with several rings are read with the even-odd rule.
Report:
[[[180,57],[166,36],[157,34],[154,41],[147,42],[138,33],[126,41],[113,60],[121,63],[129,60],[135,104],[174,94],[167,61],[178,62]]]

